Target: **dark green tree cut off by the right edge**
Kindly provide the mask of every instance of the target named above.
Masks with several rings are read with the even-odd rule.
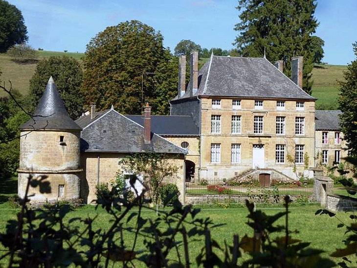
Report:
[[[340,85],[338,105],[342,111],[341,128],[350,153],[357,156],[357,59],[347,66],[344,78],[344,81],[338,82]]]

